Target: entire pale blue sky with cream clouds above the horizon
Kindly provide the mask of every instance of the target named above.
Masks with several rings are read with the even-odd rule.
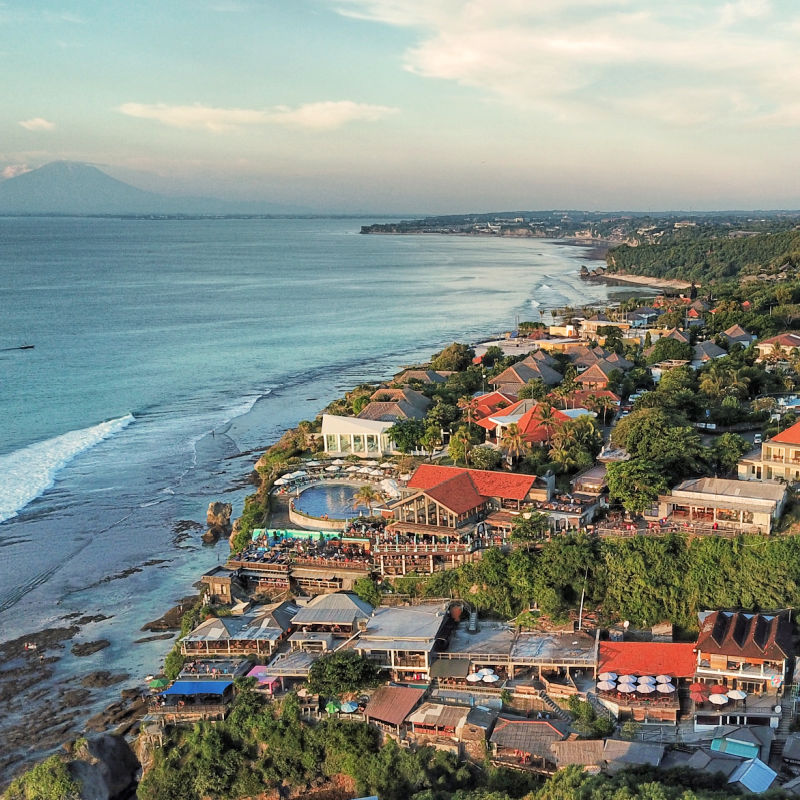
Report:
[[[0,0],[2,178],[319,211],[800,207],[796,0]]]

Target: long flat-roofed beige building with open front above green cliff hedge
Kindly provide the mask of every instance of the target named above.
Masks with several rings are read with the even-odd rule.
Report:
[[[727,478],[690,478],[658,498],[658,516],[687,529],[770,533],[786,502],[786,487]]]

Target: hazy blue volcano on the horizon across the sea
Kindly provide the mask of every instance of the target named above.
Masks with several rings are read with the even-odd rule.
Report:
[[[118,181],[90,164],[53,161],[0,182],[0,214],[292,214],[307,209],[167,197]]]

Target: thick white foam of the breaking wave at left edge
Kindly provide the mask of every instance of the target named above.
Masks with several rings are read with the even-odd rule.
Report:
[[[55,483],[59,470],[75,456],[118,433],[133,420],[133,414],[127,414],[0,456],[0,522],[15,517],[20,509],[46,492]]]

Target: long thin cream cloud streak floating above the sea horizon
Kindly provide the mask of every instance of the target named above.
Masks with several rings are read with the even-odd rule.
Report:
[[[350,122],[374,122],[397,111],[388,106],[329,100],[291,108],[213,108],[200,104],[171,106],[166,103],[123,103],[117,109],[129,117],[152,119],[173,128],[195,128],[214,132],[253,125],[288,125],[297,128],[331,130]]]

